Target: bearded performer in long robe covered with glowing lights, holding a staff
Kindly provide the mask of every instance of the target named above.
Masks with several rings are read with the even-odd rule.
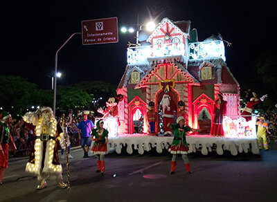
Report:
[[[46,180],[52,176],[56,178],[58,187],[68,187],[62,181],[62,165],[57,152],[57,138],[62,133],[62,128],[57,125],[52,109],[42,107],[35,112],[28,112],[23,120],[27,127],[35,129],[35,144],[26,164],[26,172],[34,174],[41,181],[37,189],[47,187]]]

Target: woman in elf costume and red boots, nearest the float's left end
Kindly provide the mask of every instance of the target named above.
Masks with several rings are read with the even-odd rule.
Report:
[[[96,129],[91,131],[91,141],[94,141],[91,151],[98,157],[97,160],[97,170],[96,172],[101,172],[104,175],[105,172],[105,160],[104,156],[107,153],[107,143],[109,131],[103,128],[104,121],[99,120],[96,123]]]

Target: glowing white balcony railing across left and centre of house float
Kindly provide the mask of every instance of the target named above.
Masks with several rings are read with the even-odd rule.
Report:
[[[159,44],[127,48],[128,64],[145,64],[148,58],[185,55],[184,44]]]

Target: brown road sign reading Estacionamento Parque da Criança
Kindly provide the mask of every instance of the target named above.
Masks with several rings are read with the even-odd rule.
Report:
[[[118,42],[117,17],[82,21],[82,44],[110,44]]]

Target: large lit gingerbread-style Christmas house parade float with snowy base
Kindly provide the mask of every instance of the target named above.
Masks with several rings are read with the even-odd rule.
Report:
[[[187,125],[202,131],[187,136],[190,153],[200,149],[206,155],[214,149],[220,155],[224,150],[232,155],[259,154],[256,120],[247,122],[240,116],[240,85],[226,64],[220,35],[199,42],[190,21],[164,18],[139,43],[127,48],[127,66],[117,89],[122,99],[116,104],[117,125],[109,136],[109,148],[118,154],[123,147],[128,154],[134,149],[139,154],[151,149],[161,153],[173,138],[165,117],[174,122],[181,115]],[[224,137],[209,135],[217,93],[227,101]],[[157,114],[154,133],[148,120],[150,102]]]

